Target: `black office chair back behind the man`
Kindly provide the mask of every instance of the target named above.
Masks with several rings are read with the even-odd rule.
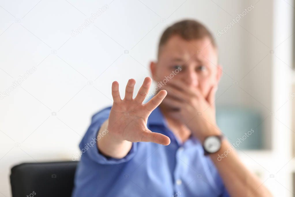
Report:
[[[22,163],[12,167],[12,196],[71,197],[77,163]]]

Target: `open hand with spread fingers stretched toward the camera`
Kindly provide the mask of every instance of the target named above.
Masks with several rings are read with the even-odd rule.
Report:
[[[137,96],[133,99],[135,80],[129,79],[123,100],[121,100],[119,93],[119,83],[117,81],[113,82],[112,96],[114,103],[109,115],[108,130],[117,140],[170,144],[170,139],[167,136],[154,133],[147,128],[148,116],[167,95],[165,90],[161,90],[151,100],[143,104],[142,102],[148,94],[151,82],[152,79],[146,77]]]

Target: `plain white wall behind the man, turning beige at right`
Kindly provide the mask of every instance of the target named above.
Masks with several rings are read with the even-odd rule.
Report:
[[[106,4],[94,23],[72,36]],[[251,4],[254,9],[240,23],[217,37]],[[269,1],[0,1],[0,92],[36,68],[0,100],[0,196],[10,196],[13,165],[71,160],[91,115],[111,105],[112,81],[124,92],[124,84],[134,78],[137,90],[149,76],[160,34],[185,18],[206,24],[219,45],[224,74],[217,104],[248,106],[267,116],[273,110]],[[270,122],[263,124],[270,132]]]

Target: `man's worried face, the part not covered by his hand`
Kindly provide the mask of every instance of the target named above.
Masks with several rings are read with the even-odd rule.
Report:
[[[171,37],[161,47],[158,62],[150,66],[156,82],[167,81],[165,77],[169,81],[181,80],[188,87],[199,89],[204,97],[219,82],[222,73],[217,64],[217,50],[207,37],[189,41],[178,35]]]

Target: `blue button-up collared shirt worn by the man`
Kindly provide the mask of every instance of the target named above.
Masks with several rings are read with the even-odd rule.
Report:
[[[122,159],[102,155],[96,146],[100,136],[96,137],[110,110],[105,108],[92,117],[79,145],[82,156],[72,197],[229,196],[200,142],[190,137],[181,143],[168,128],[159,107],[150,114],[147,126],[168,136],[168,146],[137,142]]]

